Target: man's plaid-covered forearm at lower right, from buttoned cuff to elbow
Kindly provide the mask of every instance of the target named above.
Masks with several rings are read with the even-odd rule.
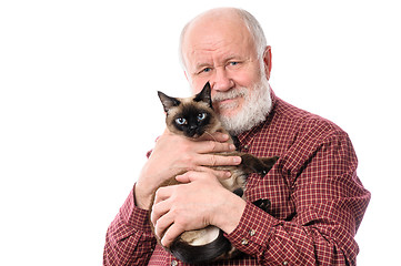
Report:
[[[353,236],[322,221],[280,221],[248,202],[239,226],[225,236],[261,265],[354,265]]]

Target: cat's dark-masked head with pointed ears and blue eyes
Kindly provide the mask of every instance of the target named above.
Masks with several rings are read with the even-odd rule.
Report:
[[[168,129],[191,139],[215,132],[220,122],[215,117],[210,93],[209,82],[191,98],[171,98],[159,91]]]

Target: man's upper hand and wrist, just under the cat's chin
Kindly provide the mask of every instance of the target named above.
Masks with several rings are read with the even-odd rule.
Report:
[[[228,140],[228,135],[214,133],[210,139],[191,141],[166,130],[158,139],[152,154],[138,178],[136,185],[137,206],[149,209],[154,190],[163,181],[178,174],[188,171],[205,171],[204,166],[240,164],[241,157],[239,156],[212,154],[234,151],[234,145],[224,143]]]

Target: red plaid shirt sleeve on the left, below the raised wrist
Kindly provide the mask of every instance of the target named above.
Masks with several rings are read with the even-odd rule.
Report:
[[[104,266],[147,265],[156,246],[148,211],[134,204],[133,191],[110,224],[103,252]]]

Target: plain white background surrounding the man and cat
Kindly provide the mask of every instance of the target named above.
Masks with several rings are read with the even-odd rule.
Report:
[[[107,227],[163,130],[156,91],[189,94],[181,28],[221,6],[259,19],[275,94],[350,134],[372,192],[359,265],[399,263],[397,1],[4,0],[1,265],[101,265]]]

